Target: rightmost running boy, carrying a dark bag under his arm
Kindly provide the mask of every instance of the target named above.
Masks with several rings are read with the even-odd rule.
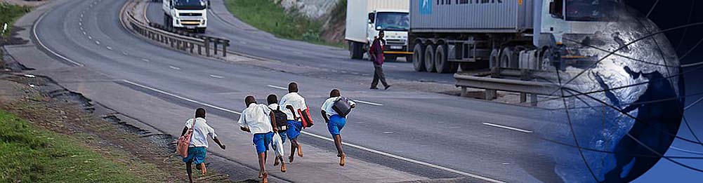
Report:
[[[335,140],[337,157],[340,157],[341,166],[344,166],[346,154],[342,151],[342,135],[340,135],[340,132],[344,128],[344,124],[347,123],[349,111],[355,107],[356,103],[346,97],[342,97],[340,90],[337,89],[330,91],[330,98],[325,100],[321,107],[322,117],[325,118],[325,123],[327,123],[327,130]]]

